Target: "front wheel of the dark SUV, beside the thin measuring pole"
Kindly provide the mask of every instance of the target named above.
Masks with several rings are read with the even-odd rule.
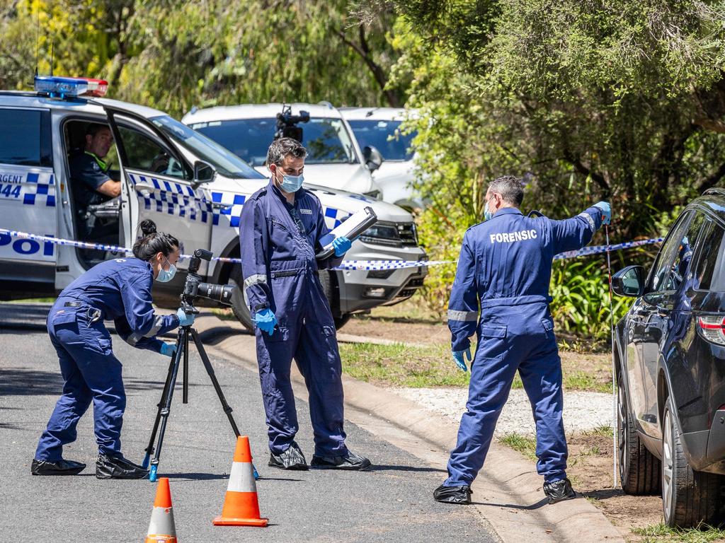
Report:
[[[660,460],[639,440],[629,414],[624,377],[617,378],[617,437],[619,480],[626,494],[657,494],[660,490]]]

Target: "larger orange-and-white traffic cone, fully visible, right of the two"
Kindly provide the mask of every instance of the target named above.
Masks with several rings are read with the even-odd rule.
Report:
[[[267,526],[267,518],[260,518],[257,502],[257,484],[252,471],[252,451],[249,437],[236,438],[234,461],[229,473],[229,485],[224,497],[222,514],[214,519],[215,526]]]

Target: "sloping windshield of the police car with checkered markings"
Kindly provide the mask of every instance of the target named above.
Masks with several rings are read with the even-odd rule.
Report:
[[[218,143],[210,140],[199,132],[194,132],[186,125],[165,115],[149,119],[175,142],[194,153],[200,159],[211,164],[217,172],[225,177],[242,177],[244,179],[264,179],[265,176],[256,169],[239,160]]]

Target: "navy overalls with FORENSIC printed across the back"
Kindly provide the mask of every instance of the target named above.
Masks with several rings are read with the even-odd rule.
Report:
[[[453,350],[468,348],[474,332],[478,346],[445,486],[476,479],[517,369],[536,421],[537,471],[544,482],[566,477],[561,361],[549,312],[552,259],[587,245],[601,223],[595,207],[563,221],[504,208],[465,232],[448,327]]]

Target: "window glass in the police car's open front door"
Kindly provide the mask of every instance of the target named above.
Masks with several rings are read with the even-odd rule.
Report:
[[[184,165],[156,140],[123,125],[118,127],[118,131],[123,140],[123,150],[126,153],[126,162],[123,164],[125,168],[139,169],[143,172],[178,179],[189,180],[191,178]]]

